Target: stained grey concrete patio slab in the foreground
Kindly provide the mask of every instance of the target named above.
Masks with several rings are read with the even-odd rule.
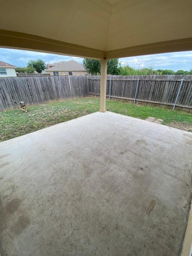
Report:
[[[0,143],[1,256],[176,256],[192,133],[111,112]]]

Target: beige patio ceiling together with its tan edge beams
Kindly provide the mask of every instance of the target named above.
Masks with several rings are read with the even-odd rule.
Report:
[[[90,58],[192,50],[192,1],[1,2],[0,46]]]

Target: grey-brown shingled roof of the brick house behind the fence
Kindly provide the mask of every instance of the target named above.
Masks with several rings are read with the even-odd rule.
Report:
[[[55,64],[55,63],[53,63]],[[49,65],[53,65],[49,64]],[[45,71],[86,71],[82,64],[75,60],[60,61],[56,66],[48,68]]]

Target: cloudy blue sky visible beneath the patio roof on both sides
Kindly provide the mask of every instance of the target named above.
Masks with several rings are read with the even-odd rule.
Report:
[[[0,60],[16,66],[26,66],[29,59],[37,58],[43,59],[46,63],[59,62],[62,60],[68,61],[71,59],[82,63],[83,60],[78,57],[0,48]],[[192,51],[143,55],[120,58],[119,60],[122,64],[128,63],[131,67],[135,68],[145,68],[149,67],[150,64],[154,64],[154,69],[172,69],[174,71],[178,69],[189,70],[192,68]]]

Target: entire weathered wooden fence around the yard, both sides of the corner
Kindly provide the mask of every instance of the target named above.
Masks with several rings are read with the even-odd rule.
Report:
[[[192,110],[192,75],[107,76],[106,95],[116,100],[173,106]],[[70,79],[70,80],[69,80]],[[110,88],[111,84],[111,88]],[[110,90],[111,89],[111,90]],[[100,76],[28,76],[0,78],[0,110],[17,108],[15,101],[36,105],[51,100],[100,95]],[[190,111],[191,111],[190,110]]]

